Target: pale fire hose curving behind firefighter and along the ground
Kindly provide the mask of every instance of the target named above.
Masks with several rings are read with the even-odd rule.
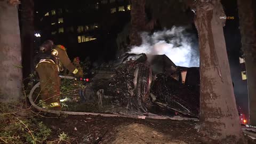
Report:
[[[75,79],[75,77],[71,76],[60,76],[61,78],[67,78],[67,79]],[[59,111],[59,110],[51,110],[51,109],[45,109],[42,107],[39,107],[36,105],[36,103],[33,100],[33,93],[36,90],[37,87],[39,87],[40,82],[35,84],[30,93],[29,93],[29,102],[31,105],[36,108],[39,111],[44,111],[46,113],[52,113],[52,114],[65,114],[65,115],[93,115],[93,116],[102,116],[102,117],[125,117],[125,118],[136,118],[136,119],[174,119],[174,120],[194,120],[198,121],[196,118],[188,118],[188,117],[167,117],[167,116],[144,116],[144,115],[118,115],[118,114],[103,114],[103,113],[87,113],[87,112],[79,112],[79,111]]]

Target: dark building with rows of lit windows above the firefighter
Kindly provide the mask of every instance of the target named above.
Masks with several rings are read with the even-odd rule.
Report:
[[[67,47],[70,59],[115,58],[116,37],[130,21],[128,0],[35,1],[35,28],[41,37]]]

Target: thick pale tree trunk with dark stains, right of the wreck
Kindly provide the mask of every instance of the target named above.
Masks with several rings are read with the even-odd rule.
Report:
[[[223,35],[219,0],[196,2],[200,52],[200,132],[214,140],[242,138]]]

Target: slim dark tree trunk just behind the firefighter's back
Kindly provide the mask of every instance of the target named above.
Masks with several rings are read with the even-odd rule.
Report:
[[[22,44],[22,67],[23,77],[26,79],[34,68],[34,1],[21,1],[21,44]],[[23,83],[26,85],[30,79]]]

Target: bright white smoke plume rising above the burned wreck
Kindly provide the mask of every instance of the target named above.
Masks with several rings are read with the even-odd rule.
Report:
[[[175,65],[199,67],[198,41],[195,34],[189,34],[183,27],[157,31],[152,35],[142,33],[142,44],[132,47],[129,53],[149,55],[165,54]]]

